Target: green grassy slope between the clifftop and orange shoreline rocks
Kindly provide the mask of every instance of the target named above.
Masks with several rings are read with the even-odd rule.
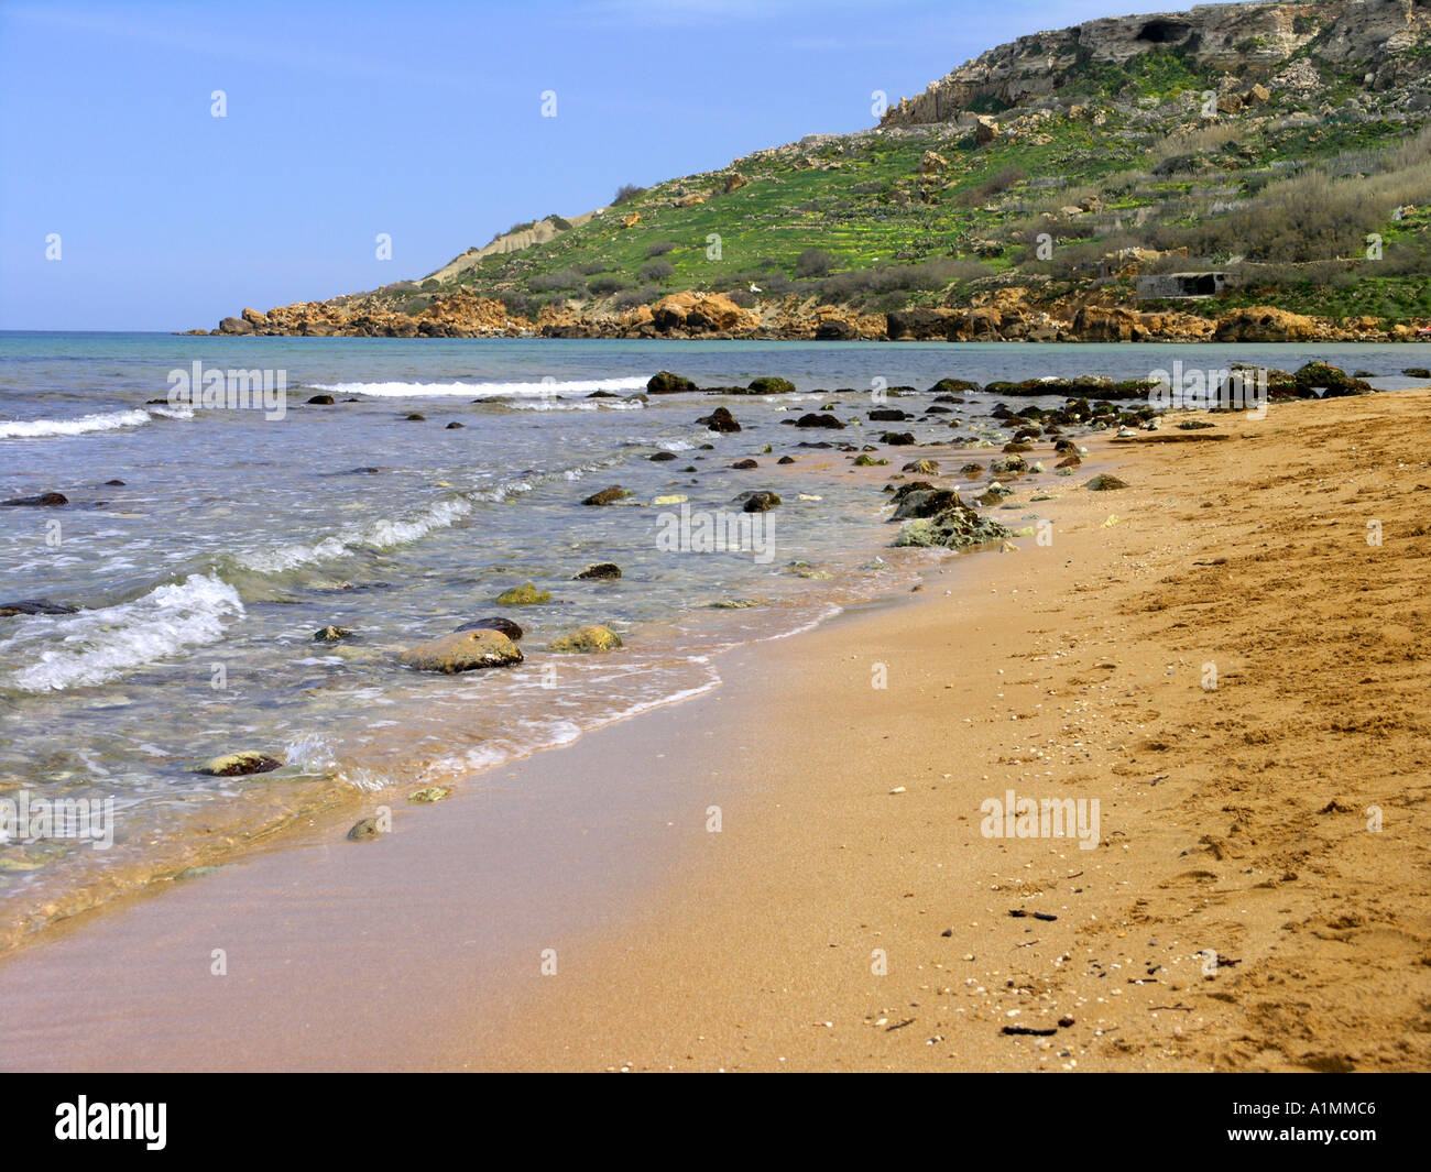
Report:
[[[1315,54],[1311,59],[1317,63]],[[728,169],[670,180],[548,245],[487,258],[455,283],[429,282],[422,290],[409,285],[384,299],[416,312],[432,293],[462,285],[534,313],[547,303],[590,303],[617,292],[612,286],[627,290],[621,293],[627,305],[681,289],[748,301],[744,290],[756,282],[766,295],[798,292],[887,311],[962,303],[990,283],[1033,285],[1047,298],[1089,292],[1098,273],[1079,269],[1080,262],[1096,268],[1098,258],[1116,248],[1183,243],[1191,256],[1211,265],[1246,256],[1278,268],[1252,269],[1242,288],[1213,302],[1178,302],[1179,309],[1272,303],[1335,318],[1428,315],[1427,216],[1422,209],[1400,223],[1390,218],[1392,197],[1400,202],[1402,189],[1417,189],[1410,170],[1405,183],[1384,185],[1381,206],[1348,209],[1347,222],[1328,226],[1319,238],[1289,242],[1282,223],[1282,239],[1272,239],[1276,222],[1286,219],[1269,199],[1279,179],[1325,169],[1328,182],[1341,182],[1349,196],[1359,176],[1394,169],[1387,157],[1407,140],[1402,124],[1342,114],[1315,126],[1279,126],[1285,114],[1358,93],[1355,79],[1327,67],[1321,73],[1324,90],[1311,103],[1274,96],[1212,126],[1191,94],[1212,89],[1215,77],[1191,69],[1175,52],[1145,54],[1118,69],[1082,66],[1063,96],[1086,100],[1089,113],[1102,112],[1103,124],[1055,114],[983,147],[952,124],[786,147],[737,160],[733,169],[748,183],[728,195],[720,193]],[[932,180],[920,176],[929,149],[949,162]],[[1153,172],[1159,162],[1163,166]],[[674,206],[693,192],[710,197]],[[1095,212],[1059,213],[1089,196],[1099,202]],[[1327,203],[1321,195],[1311,197]],[[1266,223],[1258,219],[1259,202],[1266,203]],[[1232,203],[1234,215],[1215,210],[1215,203]],[[624,228],[633,212],[640,222]],[[1040,220],[1046,213],[1053,219]],[[1381,232],[1392,263],[1335,263],[1338,256],[1359,255],[1368,229]],[[1039,230],[1056,240],[1052,260],[1033,253]],[[721,238],[718,259],[707,255],[711,233]],[[671,272],[643,278],[654,245],[671,246],[658,258]],[[829,255],[830,276],[803,278],[796,262],[809,249]],[[1308,262],[1331,263],[1295,268]],[[1113,301],[1132,301],[1130,279],[1115,278],[1103,288]]]

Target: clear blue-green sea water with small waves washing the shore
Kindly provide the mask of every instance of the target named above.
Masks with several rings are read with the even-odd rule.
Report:
[[[843,432],[783,425],[793,414],[833,402],[854,421],[873,405],[871,388],[910,385],[920,394],[889,405],[919,416],[926,388],[946,376],[1125,379],[1179,359],[1295,369],[1315,358],[1384,375],[1375,385],[1395,389],[1411,385],[1398,372],[1424,365],[1421,353],[0,333],[0,499],[70,501],[0,508],[0,604],[74,608],[0,618],[0,797],[113,799],[117,811],[104,851],[64,839],[0,844],[0,909],[24,910],[106,869],[166,866],[196,836],[242,834],[316,794],[468,776],[711,687],[723,648],[893,590],[933,557],[886,548],[883,495],[849,477],[849,456],[800,441],[863,444],[889,428],[947,441],[950,418],[963,421],[962,436],[979,428],[1003,438],[990,396],[969,396],[956,416]],[[268,372],[286,385],[282,412],[276,401],[167,401],[173,372],[196,362]],[[643,396],[660,369],[703,385],[781,375],[797,394]],[[608,396],[588,398],[597,391]],[[335,405],[306,405],[316,394]],[[740,434],[695,422],[720,405]],[[663,451],[677,458],[648,458]],[[777,467],[787,454],[797,462]],[[760,467],[730,468],[743,458]],[[610,484],[638,504],[580,504]],[[737,495],[764,488],[784,502],[761,551],[663,548],[663,514],[678,507],[653,498],[685,495],[697,512],[740,515]],[[594,562],[617,562],[622,577],[572,580]],[[554,601],[495,605],[525,581]],[[756,605],[711,605],[730,600]],[[525,664],[441,677],[396,660],[494,614],[527,628]],[[625,648],[544,651],[590,622],[612,627]],[[356,637],[315,644],[328,624]],[[230,780],[195,773],[245,748],[285,767]]]

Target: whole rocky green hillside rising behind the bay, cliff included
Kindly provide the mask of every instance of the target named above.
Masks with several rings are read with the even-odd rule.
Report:
[[[993,49],[877,127],[220,331],[1407,339],[1431,322],[1428,123],[1427,0],[1095,20]]]

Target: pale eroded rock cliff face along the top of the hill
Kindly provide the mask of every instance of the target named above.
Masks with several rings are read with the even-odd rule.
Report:
[[[1384,92],[1425,76],[1428,63],[1407,50],[1428,36],[1431,0],[1201,4],[1183,13],[1103,17],[990,49],[916,97],[900,99],[881,124],[1059,104],[1089,66],[1120,66],[1158,50],[1175,50],[1189,64],[1244,84],[1275,82],[1299,57],[1315,54],[1331,66],[1361,70],[1368,90]]]

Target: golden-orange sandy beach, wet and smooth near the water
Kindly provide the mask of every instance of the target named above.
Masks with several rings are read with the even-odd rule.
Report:
[[[714,693],[47,930],[0,1068],[1425,1069],[1428,404],[1093,436]]]

